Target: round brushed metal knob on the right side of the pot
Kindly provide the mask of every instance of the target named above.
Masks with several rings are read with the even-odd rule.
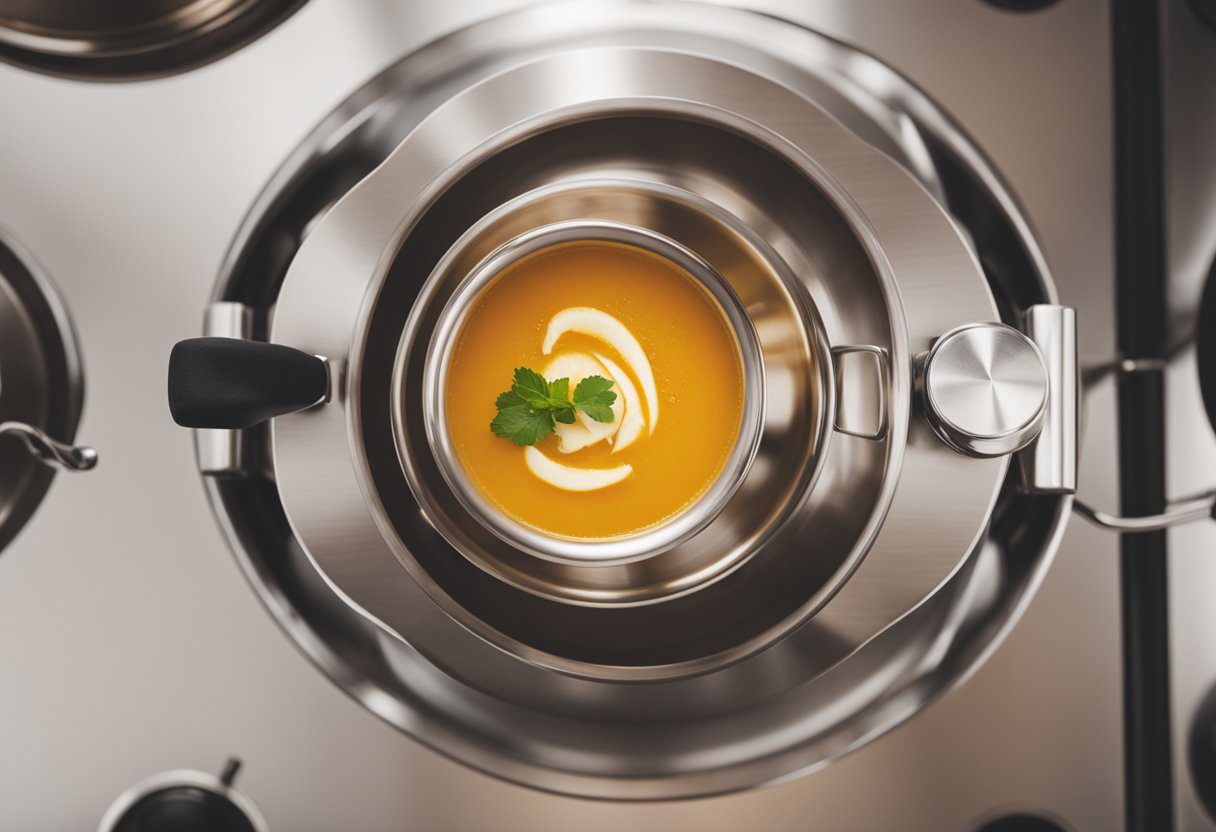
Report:
[[[1043,358],[1003,324],[970,324],[939,338],[925,358],[923,386],[933,429],[970,456],[1025,448],[1047,411]]]

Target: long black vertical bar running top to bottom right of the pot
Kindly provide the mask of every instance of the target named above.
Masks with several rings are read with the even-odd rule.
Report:
[[[1127,358],[1165,352],[1166,237],[1160,6],[1113,0],[1115,287],[1118,345]],[[1165,403],[1160,371],[1119,382],[1120,494],[1125,515],[1165,508]],[[1173,830],[1165,533],[1125,535],[1120,551],[1124,765],[1128,832]]]

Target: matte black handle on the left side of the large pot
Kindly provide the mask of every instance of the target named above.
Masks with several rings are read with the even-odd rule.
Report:
[[[315,355],[264,341],[188,338],[169,354],[169,412],[190,428],[247,428],[322,400]]]

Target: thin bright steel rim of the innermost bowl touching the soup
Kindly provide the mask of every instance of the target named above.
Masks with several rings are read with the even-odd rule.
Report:
[[[717,478],[691,505],[640,533],[607,539],[562,538],[539,532],[490,504],[456,456],[446,420],[449,359],[477,297],[511,265],[562,243],[607,242],[631,246],[679,266],[706,291],[722,311],[739,350],[743,409],[739,431]],[[400,380],[402,373],[396,373]],[[394,425],[404,418],[404,390],[393,397]],[[427,349],[422,380],[427,442],[440,473],[460,504],[479,523],[512,547],[557,563],[623,564],[665,552],[688,540],[716,518],[747,476],[760,444],[765,376],[759,338],[750,316],[726,280],[705,260],[670,237],[610,220],[565,220],[520,234],[486,255],[461,281],[439,314]],[[405,452],[398,429],[398,452]]]

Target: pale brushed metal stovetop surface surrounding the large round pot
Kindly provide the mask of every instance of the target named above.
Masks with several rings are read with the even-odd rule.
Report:
[[[232,231],[299,137],[404,51],[514,5],[313,0],[248,50],[156,84],[0,69],[6,105],[32,114],[0,136],[0,217],[77,315],[92,390],[83,429],[108,452],[89,478],[57,482],[0,558],[0,656],[19,669],[0,676],[0,730],[23,751],[0,760],[4,825],[88,828],[141,777],[237,749],[272,828],[963,832],[1009,809],[1121,828],[1114,543],[1083,525],[968,684],[823,771],[714,800],[604,805],[469,772],[349,701],[265,614],[164,414],[163,356],[197,330]],[[883,55],[958,116],[1035,223],[1060,300],[1079,308],[1081,355],[1111,354],[1104,4],[1023,16],[945,0],[756,5]],[[154,314],[136,328],[130,309]],[[1080,471],[1105,505],[1113,404],[1105,388],[1087,398]]]

